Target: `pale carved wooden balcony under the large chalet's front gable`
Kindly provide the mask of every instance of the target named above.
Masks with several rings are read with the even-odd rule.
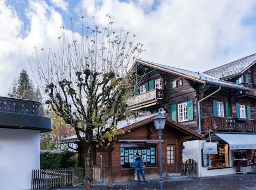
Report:
[[[128,102],[128,105],[131,109],[135,107],[141,107],[154,104],[157,102],[158,99],[165,99],[166,91],[154,89],[142,94],[138,94],[137,96],[131,97],[131,99]]]

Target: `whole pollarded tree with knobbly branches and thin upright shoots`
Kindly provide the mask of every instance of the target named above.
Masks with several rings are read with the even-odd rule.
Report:
[[[109,15],[107,20],[106,27],[82,24],[81,35],[72,32],[70,37],[63,29],[57,53],[41,49],[29,59],[45,87],[46,103],[84,145],[84,189],[93,189],[93,150],[122,133],[117,122],[129,116],[126,102],[138,85],[136,66],[131,65],[143,51],[135,35],[114,31]]]

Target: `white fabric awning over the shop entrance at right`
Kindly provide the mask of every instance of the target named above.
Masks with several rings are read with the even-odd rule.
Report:
[[[217,132],[214,132],[214,134],[227,142],[230,150],[256,149],[256,134],[227,134]]]

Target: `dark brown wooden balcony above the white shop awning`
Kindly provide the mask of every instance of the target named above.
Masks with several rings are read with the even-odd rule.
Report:
[[[256,132],[254,119],[210,116],[202,119],[202,131]]]

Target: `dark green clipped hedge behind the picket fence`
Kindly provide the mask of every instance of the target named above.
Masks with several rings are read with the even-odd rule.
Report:
[[[74,153],[69,150],[41,150],[40,168],[70,168],[74,166]]]

